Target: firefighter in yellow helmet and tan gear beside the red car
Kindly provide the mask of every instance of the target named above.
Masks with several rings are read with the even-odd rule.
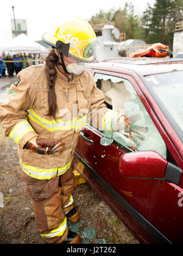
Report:
[[[103,130],[129,124],[106,108],[104,94],[84,70],[85,62],[96,60],[98,47],[87,21],[70,18],[42,40],[52,46],[45,64],[18,73],[7,100],[0,104],[0,120],[5,136],[18,145],[21,177],[43,240],[79,243],[77,233],[66,224],[79,219],[72,197],[72,160],[79,132],[87,118]]]

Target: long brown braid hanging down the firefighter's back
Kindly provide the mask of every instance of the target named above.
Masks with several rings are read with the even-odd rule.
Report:
[[[46,62],[45,72],[46,72],[46,78],[47,78],[47,83],[49,87],[49,91],[48,91],[49,111],[47,115],[52,115],[52,117],[54,117],[55,120],[56,120],[56,111],[57,111],[57,100],[56,100],[56,93],[54,90],[54,84],[56,81],[57,70],[54,66],[57,64],[58,61],[59,61],[59,57],[55,53],[54,49],[52,49],[45,59],[45,62]]]

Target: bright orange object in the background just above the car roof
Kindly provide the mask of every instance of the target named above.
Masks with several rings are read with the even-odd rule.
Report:
[[[147,49],[138,49],[134,53],[130,52],[129,57],[173,57],[173,54],[170,51],[167,51],[166,45],[162,43],[154,43],[149,46]]]

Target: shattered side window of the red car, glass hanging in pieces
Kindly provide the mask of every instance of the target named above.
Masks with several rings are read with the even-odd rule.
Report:
[[[126,115],[131,123],[125,131],[106,131],[101,144],[109,145],[114,140],[132,151],[154,150],[166,159],[165,143],[131,82],[99,73],[94,78],[106,97],[107,108]]]

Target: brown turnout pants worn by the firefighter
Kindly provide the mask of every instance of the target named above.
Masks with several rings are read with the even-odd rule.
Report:
[[[68,234],[65,214],[73,209],[72,166],[65,174],[51,180],[38,180],[21,172],[26,193],[33,202],[37,230],[46,243],[62,243]]]

